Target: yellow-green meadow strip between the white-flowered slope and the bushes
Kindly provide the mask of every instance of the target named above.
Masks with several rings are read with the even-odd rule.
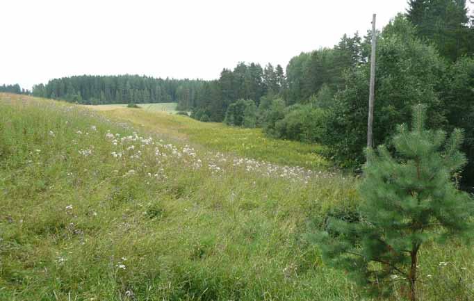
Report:
[[[311,169],[329,165],[320,155],[323,148],[319,145],[268,138],[261,129],[241,129],[222,123],[199,122],[181,115],[131,108],[115,108],[103,113],[109,118],[132,122],[136,127],[160,133],[165,138],[179,138],[214,152]]]

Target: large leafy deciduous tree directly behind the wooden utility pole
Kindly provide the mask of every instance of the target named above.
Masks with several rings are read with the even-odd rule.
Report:
[[[427,104],[427,124],[446,126],[443,103],[437,89],[443,84],[446,65],[434,47],[413,35],[411,24],[396,17],[377,42],[377,70],[374,108],[375,145],[387,143],[395,124],[410,122],[411,105]],[[370,64],[345,74],[345,88],[336,94],[330,108],[322,142],[329,146],[336,161],[345,166],[364,162]]]

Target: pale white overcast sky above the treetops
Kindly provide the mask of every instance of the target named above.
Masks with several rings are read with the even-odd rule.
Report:
[[[407,0],[2,0],[0,84],[79,74],[218,78],[239,61],[286,66]]]

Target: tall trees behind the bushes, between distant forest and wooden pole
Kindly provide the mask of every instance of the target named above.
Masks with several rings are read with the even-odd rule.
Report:
[[[262,98],[282,98],[285,106],[291,106],[307,103],[320,90],[332,96],[344,84],[343,72],[364,60],[364,47],[367,43],[357,33],[353,37],[344,35],[334,49],[292,58],[286,74],[281,65],[273,67],[269,63],[262,68],[257,63],[238,63],[234,70],[222,70],[219,79],[206,82],[194,102],[180,101],[179,108],[193,111],[198,120],[222,122],[227,109],[239,99],[252,100],[259,106]]]

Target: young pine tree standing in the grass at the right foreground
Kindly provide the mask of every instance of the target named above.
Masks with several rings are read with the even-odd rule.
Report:
[[[444,131],[425,129],[425,120],[425,106],[414,107],[412,130],[401,125],[393,137],[397,156],[383,145],[368,150],[361,221],[333,218],[333,235],[320,235],[323,259],[370,293],[390,293],[402,280],[416,300],[420,247],[474,234],[474,202],[452,182],[466,163],[459,151],[462,131],[446,139]]]

